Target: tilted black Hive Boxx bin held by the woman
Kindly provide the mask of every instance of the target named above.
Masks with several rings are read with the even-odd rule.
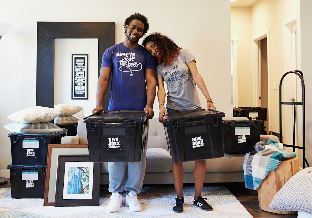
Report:
[[[174,163],[223,157],[223,112],[194,110],[168,114],[163,126]]]

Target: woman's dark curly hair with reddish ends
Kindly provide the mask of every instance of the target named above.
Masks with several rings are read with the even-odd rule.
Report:
[[[169,37],[164,36],[158,32],[152,33],[149,36],[146,36],[143,40],[142,45],[145,47],[146,43],[153,41],[156,45],[155,52],[158,53],[156,56],[158,63],[164,63],[165,66],[170,64],[170,58],[175,58],[179,55],[180,50],[182,49],[176,45],[173,40]]]

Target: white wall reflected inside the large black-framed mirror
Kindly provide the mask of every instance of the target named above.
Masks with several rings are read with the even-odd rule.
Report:
[[[84,108],[85,116],[92,114],[96,102],[98,73],[97,39],[55,39],[54,41],[54,104],[73,104]],[[88,55],[88,99],[71,99],[71,55]]]

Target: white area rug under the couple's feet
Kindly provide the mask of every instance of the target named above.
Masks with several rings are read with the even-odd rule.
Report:
[[[252,218],[246,208],[226,187],[203,187],[202,197],[212,206],[213,211],[204,211],[193,206],[194,187],[184,187],[184,212],[175,213],[176,193],[174,187],[143,187],[138,199],[142,211],[131,212],[122,206],[119,212],[106,212],[110,201],[107,187],[101,187],[100,206],[54,207],[43,206],[43,199],[13,199],[10,188],[0,188],[0,217],[1,218],[81,218],[81,217],[217,217],[217,218]],[[123,193],[123,197],[125,193]]]

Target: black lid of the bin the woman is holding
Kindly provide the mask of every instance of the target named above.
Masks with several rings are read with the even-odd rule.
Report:
[[[203,117],[209,117],[209,116],[218,116],[218,117],[224,117],[224,113],[220,111],[214,111],[214,110],[192,110],[192,111],[179,111],[179,112],[173,112],[168,113],[168,119],[163,117],[163,122],[170,121],[170,120],[181,120],[181,119],[196,119],[196,118],[203,118]]]

